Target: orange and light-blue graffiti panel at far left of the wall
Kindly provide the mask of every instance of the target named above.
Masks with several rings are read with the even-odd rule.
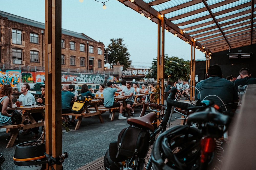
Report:
[[[0,86],[3,84],[10,84],[12,87],[16,87],[20,82],[20,71],[18,70],[6,70],[6,72],[0,71]]]

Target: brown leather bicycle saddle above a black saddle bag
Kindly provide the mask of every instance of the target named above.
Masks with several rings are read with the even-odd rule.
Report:
[[[130,117],[127,119],[127,123],[130,125],[144,127],[150,131],[154,131],[154,126],[152,122],[156,119],[156,114],[154,112],[150,112],[141,117]]]

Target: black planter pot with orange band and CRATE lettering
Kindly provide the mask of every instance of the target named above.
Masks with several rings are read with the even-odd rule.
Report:
[[[22,146],[26,143],[32,143],[36,141],[24,142],[16,145],[14,153],[14,170],[44,170],[45,164],[41,161],[45,161],[45,143],[34,146]]]

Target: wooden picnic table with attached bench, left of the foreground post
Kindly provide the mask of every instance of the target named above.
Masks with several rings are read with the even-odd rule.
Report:
[[[44,126],[44,121],[41,122],[36,122],[35,119],[32,117],[31,113],[38,113],[41,114],[43,117],[45,117],[45,106],[23,106],[23,107],[13,107],[13,108],[7,108],[7,110],[22,110],[22,122],[20,125],[5,125],[1,126],[0,128],[6,128],[6,133],[12,132],[12,136],[7,143],[6,148],[12,147],[16,137],[19,134],[19,130],[23,128],[25,129],[30,129],[34,127],[40,127]],[[30,124],[23,125],[24,120],[28,118],[29,121],[31,122]]]

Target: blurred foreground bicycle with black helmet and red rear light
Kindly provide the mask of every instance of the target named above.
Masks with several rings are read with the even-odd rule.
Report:
[[[222,112],[217,105],[210,107],[213,106],[211,102],[203,106],[191,106],[167,98],[168,104],[199,110],[185,117],[186,125],[175,126],[158,136],[151,154],[153,169],[207,169],[214,159],[214,138],[222,137],[227,129],[223,131],[221,127],[228,127],[233,113]],[[197,122],[199,127],[193,127],[193,122]]]

